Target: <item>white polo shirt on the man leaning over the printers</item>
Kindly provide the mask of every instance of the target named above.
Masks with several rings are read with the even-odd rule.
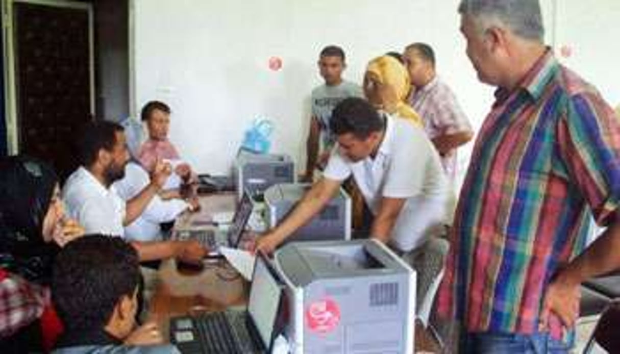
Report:
[[[448,179],[440,157],[422,128],[386,117],[386,131],[374,159],[352,162],[334,149],[324,177],[343,181],[351,174],[366,204],[377,215],[381,198],[406,198],[392,229],[391,245],[408,252],[420,246],[446,219]]]

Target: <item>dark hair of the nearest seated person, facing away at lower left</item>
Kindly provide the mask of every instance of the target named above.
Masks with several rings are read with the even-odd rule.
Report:
[[[103,329],[123,296],[140,280],[138,254],[120,237],[87,235],[56,257],[51,296],[68,332]]]

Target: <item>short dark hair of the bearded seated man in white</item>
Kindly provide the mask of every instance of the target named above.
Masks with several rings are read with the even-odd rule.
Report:
[[[117,142],[117,131],[125,129],[122,125],[109,120],[86,123],[79,143],[81,164],[86,167],[92,166],[97,161],[100,149],[112,151]]]

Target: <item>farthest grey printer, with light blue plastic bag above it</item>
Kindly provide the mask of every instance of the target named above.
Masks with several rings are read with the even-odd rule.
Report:
[[[255,154],[241,150],[232,172],[240,200],[244,190],[252,197],[262,197],[265,189],[274,184],[295,182],[293,160],[285,154]]]

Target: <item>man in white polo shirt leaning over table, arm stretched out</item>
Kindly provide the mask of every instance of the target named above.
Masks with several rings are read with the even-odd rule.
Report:
[[[335,107],[330,128],[338,148],[322,178],[288,218],[257,240],[255,249],[273,252],[319,213],[350,175],[373,212],[371,237],[399,254],[415,250],[443,229],[448,181],[422,128],[379,113],[358,98]]]

